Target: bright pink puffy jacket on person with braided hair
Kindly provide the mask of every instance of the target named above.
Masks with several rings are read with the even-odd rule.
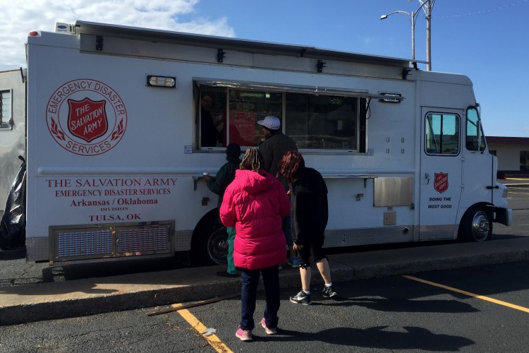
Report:
[[[235,227],[233,262],[258,270],[286,261],[281,221],[290,213],[284,187],[272,174],[238,169],[222,199],[221,222]]]

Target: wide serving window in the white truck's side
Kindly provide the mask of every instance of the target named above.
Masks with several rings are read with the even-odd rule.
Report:
[[[204,85],[200,97],[201,147],[224,147],[229,143],[258,146],[265,136],[257,121],[274,115],[281,119],[284,133],[296,141],[298,148],[365,150],[365,98]],[[209,108],[205,108],[205,98],[212,101]],[[213,125],[219,134],[214,144],[205,138]]]

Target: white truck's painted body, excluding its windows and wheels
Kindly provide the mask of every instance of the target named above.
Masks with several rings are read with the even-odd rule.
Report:
[[[30,260],[191,249],[201,220],[217,205],[200,176],[215,174],[225,162],[225,148],[200,148],[198,140],[194,92],[206,81],[327,88],[369,100],[364,150],[300,148],[329,189],[326,246],[454,239],[472,205],[506,210],[495,157],[486,148],[464,148],[466,109],[476,104],[466,76],[311,47],[97,23],[78,22],[76,30],[28,37]],[[218,48],[226,53],[222,62]],[[321,73],[316,55],[325,61]],[[409,71],[406,79],[403,70]],[[147,75],[176,77],[176,88],[150,87]],[[382,102],[381,92],[397,92],[403,100]],[[423,118],[431,112],[459,119],[456,155],[425,152]],[[116,250],[126,236],[109,240],[123,226],[145,241],[160,224],[169,244],[159,249]],[[94,244],[85,244],[85,232],[94,229],[107,230],[90,233]]]

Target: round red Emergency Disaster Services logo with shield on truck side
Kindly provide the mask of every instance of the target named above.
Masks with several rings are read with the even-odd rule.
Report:
[[[51,137],[76,155],[101,155],[114,148],[126,131],[127,111],[118,93],[97,80],[64,83],[46,107]]]

